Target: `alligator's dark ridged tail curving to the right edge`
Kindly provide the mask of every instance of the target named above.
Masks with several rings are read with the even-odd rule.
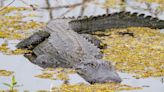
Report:
[[[90,33],[111,28],[149,27],[163,29],[164,20],[145,14],[119,12],[102,16],[78,18],[69,22],[70,28],[78,33]]]

